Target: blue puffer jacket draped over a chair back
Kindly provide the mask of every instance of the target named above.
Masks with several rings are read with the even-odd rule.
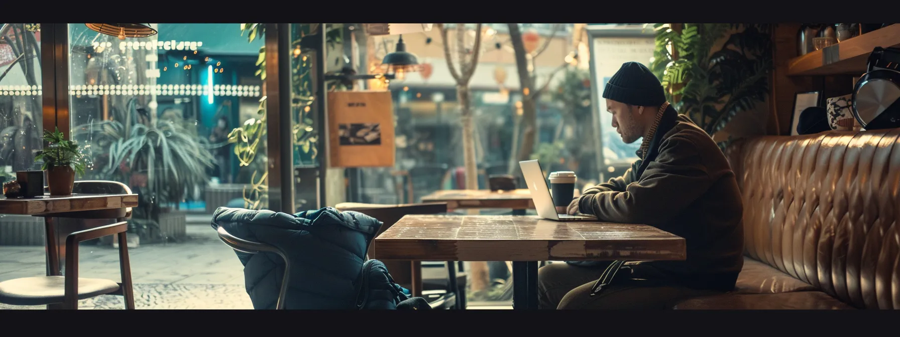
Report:
[[[271,210],[218,208],[212,228],[238,238],[271,244],[292,262],[286,309],[356,309],[365,253],[383,223],[335,208],[294,215]],[[275,309],[284,260],[275,253],[242,253],[247,294],[256,309]]]

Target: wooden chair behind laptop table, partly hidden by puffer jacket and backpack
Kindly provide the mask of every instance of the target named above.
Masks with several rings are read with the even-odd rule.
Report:
[[[420,203],[420,204],[365,204],[345,202],[338,204],[338,210],[353,210],[374,217],[383,222],[378,237],[385,230],[400,221],[401,217],[409,214],[444,214],[447,211],[445,202]],[[371,248],[370,248],[371,249]],[[408,286],[414,297],[425,297],[436,308],[465,308],[465,282],[464,272],[456,272],[455,262],[434,262],[435,267],[447,268],[446,290],[424,290],[422,279],[423,262],[419,261],[383,261],[394,280],[403,286]],[[440,280],[437,280],[440,282]],[[430,282],[429,282],[430,283]],[[441,293],[441,291],[444,291]]]

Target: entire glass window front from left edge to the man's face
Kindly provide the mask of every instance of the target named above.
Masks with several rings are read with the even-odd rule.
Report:
[[[396,164],[325,170],[321,168],[325,153],[320,149],[327,135],[319,134],[324,111],[314,102],[322,94],[316,90],[322,85],[317,72],[324,68],[328,74],[337,74],[352,67],[356,74],[384,73],[381,61],[396,49],[398,35],[371,36],[361,24],[328,24],[324,28],[291,24],[288,31],[278,31],[288,35],[288,49],[282,46],[280,54],[266,54],[266,48],[272,46],[266,43],[266,36],[275,37],[266,34],[265,28],[271,26],[149,25],[156,35],[120,40],[92,31],[84,23],[67,24],[67,39],[63,39],[69,51],[67,76],[55,76],[66,78],[59,80],[67,82],[66,128],[88,159],[85,176],[78,179],[123,182],[139,193],[129,232],[130,238],[136,238],[132,243],[136,249],[131,251],[133,281],[141,293],[157,294],[163,297],[163,306],[170,307],[248,306],[240,264],[233,252],[220,244],[209,223],[211,213],[222,206],[277,208],[267,198],[282,187],[270,189],[267,178],[277,162],[268,157],[268,149],[275,151],[275,144],[293,146],[294,170],[281,173],[283,184],[295,184],[296,209],[282,209],[287,212],[335,206],[335,201],[412,203],[434,191],[463,189],[467,139],[458,87],[445,58],[451,55],[451,63],[460,73],[459,56],[473,55],[473,50],[459,48],[455,45],[458,40],[471,46],[474,37],[482,36],[480,58],[468,83],[471,140],[478,166],[475,178],[482,189],[493,174],[520,175],[521,159],[539,159],[548,172],[574,171],[581,185],[599,182],[600,174],[608,177],[633,161],[637,144],[621,144],[615,132],[610,132],[608,113],[596,97],[606,77],[617,70],[615,65],[647,61],[653,46],[650,39],[651,54],[647,56],[644,40],[637,43],[639,51],[611,53],[608,47],[598,47],[599,40],[589,40],[583,25],[577,24],[510,28],[507,23],[491,23],[482,31],[466,24],[465,36],[459,39],[455,25],[450,25],[450,50],[445,50],[437,29],[404,33],[407,51],[419,58],[419,71],[390,83],[383,79],[354,83],[354,90],[392,93]],[[43,58],[39,26],[2,27],[0,167],[4,173],[12,173],[40,167],[33,158],[41,148],[44,129]],[[320,32],[324,41],[306,40]],[[511,43],[515,34],[521,35],[521,46]],[[277,39],[269,42],[273,40]],[[324,59],[317,59],[320,54],[315,49],[320,42],[327,46]],[[588,49],[597,49],[596,55],[589,55]],[[266,60],[273,55],[290,59],[286,62],[289,74],[266,68]],[[589,67],[591,58],[599,62],[594,74]],[[525,63],[517,59],[525,59]],[[528,76],[527,87],[519,74]],[[282,123],[290,120],[292,132],[275,139],[268,137],[266,83],[275,85],[272,80],[283,76],[290,77],[290,88],[279,87],[280,96],[290,90],[290,103],[279,101],[276,118]],[[325,86],[327,90],[349,90],[345,83]],[[327,179],[321,179],[322,173]],[[323,194],[327,194],[324,199]],[[481,212],[509,214],[510,210]],[[19,223],[21,226],[13,226]],[[0,247],[3,252],[42,258],[40,219],[7,216],[0,218],[0,225],[0,245],[9,245],[4,242],[9,238],[24,245],[15,251]],[[82,248],[82,262],[86,263],[82,270],[102,275],[85,277],[116,279],[117,267],[109,263],[116,252],[109,249],[112,241],[94,243],[98,246],[85,244]],[[42,259],[29,263],[11,272],[0,270],[0,280],[42,272]],[[503,272],[503,263],[491,266],[491,281],[509,277],[509,270]],[[509,284],[497,281],[489,285],[494,287],[474,289],[470,294],[478,295],[473,300],[510,299]],[[202,289],[224,295],[220,300],[197,297],[198,302],[187,305],[168,302],[180,298],[179,292],[196,294]],[[138,306],[151,306],[157,299],[141,298]],[[121,303],[121,298],[92,300],[90,306],[114,307],[116,303]]]

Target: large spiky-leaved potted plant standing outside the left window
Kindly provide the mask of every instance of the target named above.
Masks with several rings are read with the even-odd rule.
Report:
[[[130,102],[130,115],[142,109]],[[213,157],[203,139],[192,136],[178,120],[103,120],[73,129],[74,137],[91,139],[93,174],[128,184],[139,195],[129,232],[148,243],[184,236],[186,213],[178,209],[186,191],[204,187]]]

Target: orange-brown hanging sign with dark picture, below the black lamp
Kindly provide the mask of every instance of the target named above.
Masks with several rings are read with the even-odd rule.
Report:
[[[329,92],[329,167],[393,167],[391,92]]]

